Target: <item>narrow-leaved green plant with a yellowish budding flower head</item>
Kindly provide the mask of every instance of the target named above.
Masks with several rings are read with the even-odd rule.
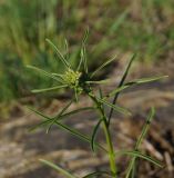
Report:
[[[35,70],[37,72],[40,72],[51,79],[54,79],[59,85],[51,87],[51,88],[45,88],[45,89],[35,89],[32,90],[32,92],[43,92],[43,91],[52,91],[52,90],[57,90],[60,88],[69,88],[72,89],[74,91],[74,97],[72,98],[72,100],[54,117],[48,117],[34,109],[31,109],[32,111],[34,111],[37,115],[39,115],[40,117],[42,117],[44,120],[41,121],[39,125],[34,126],[31,130],[35,130],[37,128],[40,127],[47,127],[47,132],[50,131],[51,127],[53,125],[57,125],[59,128],[69,131],[71,135],[76,136],[78,138],[82,139],[83,141],[88,141],[91,145],[91,149],[92,151],[98,151],[98,149],[101,149],[103,151],[103,154],[108,155],[109,158],[109,162],[110,162],[110,170],[102,170],[102,171],[96,171],[96,172],[92,172],[86,176],[84,176],[84,178],[88,177],[95,177],[99,175],[106,175],[108,177],[112,177],[112,178],[117,178],[117,166],[115,162],[115,159],[117,158],[117,156],[120,155],[127,155],[131,156],[131,161],[127,167],[127,171],[125,177],[130,178],[131,176],[134,177],[135,175],[135,162],[137,158],[142,158],[145,159],[158,167],[163,167],[163,165],[161,162],[158,162],[157,160],[155,160],[154,158],[151,158],[146,155],[141,154],[140,151],[140,146],[143,141],[143,139],[145,138],[151,121],[154,117],[155,113],[155,109],[152,108],[149,117],[146,119],[146,122],[144,123],[144,127],[142,129],[142,132],[137,139],[137,142],[135,145],[134,150],[119,150],[116,151],[113,147],[113,141],[112,141],[112,137],[111,137],[111,129],[110,129],[110,121],[112,118],[112,113],[113,111],[117,111],[123,115],[130,115],[131,112],[125,109],[122,108],[120,106],[116,105],[116,100],[119,98],[119,95],[125,90],[126,88],[130,88],[132,86],[137,86],[141,83],[146,83],[146,82],[152,82],[152,81],[156,81],[158,79],[162,79],[166,76],[162,76],[162,77],[152,77],[152,78],[143,78],[143,79],[136,79],[133,81],[129,81],[125,82],[126,76],[129,75],[130,68],[132,62],[135,59],[135,55],[132,56],[127,68],[122,77],[122,80],[120,82],[120,85],[117,86],[116,89],[110,91],[108,95],[103,95],[102,90],[99,88],[99,93],[95,92],[95,85],[103,85],[103,83],[108,83],[110,80],[100,80],[96,81],[94,79],[95,75],[102,70],[105,66],[108,66],[109,63],[111,63],[114,59],[110,59],[106,62],[104,62],[103,65],[101,65],[96,70],[94,70],[93,72],[89,72],[88,69],[88,61],[86,61],[86,50],[85,50],[85,46],[86,46],[86,40],[88,40],[88,34],[89,34],[89,30],[86,30],[84,38],[82,40],[81,43],[81,56],[80,56],[80,62],[76,69],[74,69],[71,63],[69,62],[69,59],[66,57],[64,57],[59,49],[50,41],[47,40],[52,47],[53,49],[57,51],[59,59],[62,61],[62,63],[65,67],[65,72],[64,73],[51,73],[48,71],[44,71],[42,69],[39,69],[37,67],[33,66],[28,66],[28,68]],[[69,53],[69,49],[66,46],[66,51]],[[72,111],[68,111],[69,107],[72,105],[72,102],[78,102],[79,101],[79,97],[81,95],[86,95],[92,101],[93,105],[92,107],[84,107],[84,108],[79,108],[76,110],[72,110]],[[112,97],[114,97],[113,101],[110,102],[109,99],[111,99]],[[110,115],[108,116],[108,113],[105,112],[104,106],[111,108]],[[85,136],[83,134],[81,134],[80,131],[78,131],[76,129],[73,129],[66,125],[64,125],[62,122],[63,119],[65,119],[68,116],[74,115],[76,112],[81,112],[83,110],[94,110],[99,113],[99,119],[96,125],[93,128],[93,132],[91,135],[91,137]],[[98,135],[98,130],[100,129],[100,127],[102,126],[102,130],[104,132],[105,136],[105,141],[106,141],[106,148],[104,148],[101,144],[95,141],[95,137]],[[69,178],[76,178],[76,176],[73,176],[72,174],[70,174],[69,171],[66,171],[65,169],[48,161],[48,160],[43,160],[41,159],[41,161],[50,167],[52,167],[53,169],[60,171],[62,175],[69,177]]]

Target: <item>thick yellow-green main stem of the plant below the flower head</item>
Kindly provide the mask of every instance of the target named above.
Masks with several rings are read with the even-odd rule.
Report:
[[[102,123],[103,123],[103,131],[104,131],[105,139],[106,139],[106,145],[108,145],[108,148],[109,148],[109,154],[108,155],[109,155],[109,160],[110,160],[110,169],[111,169],[111,172],[112,172],[112,177],[116,178],[117,176],[116,176],[116,165],[115,165],[115,152],[114,152],[114,149],[113,149],[111,134],[110,134],[110,130],[109,130],[109,127],[108,127],[108,119],[104,115],[104,110],[101,107],[101,103],[98,101],[95,96],[92,92],[88,92],[88,96],[96,105],[98,111],[99,111],[101,118],[103,119]]]

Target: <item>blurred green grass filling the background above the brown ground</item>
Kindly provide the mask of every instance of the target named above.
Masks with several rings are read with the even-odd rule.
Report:
[[[173,0],[101,0],[99,3],[6,0],[0,3],[0,101],[30,97],[29,90],[34,85],[40,88],[52,85],[52,80],[29,73],[23,68],[25,65],[61,72],[62,63],[52,60],[55,53],[45,38],[65,55],[64,36],[68,37],[70,63],[78,65],[78,41],[86,24],[92,29],[89,70],[104,62],[115,50],[139,51],[142,61],[156,62],[167,58],[174,47]]]

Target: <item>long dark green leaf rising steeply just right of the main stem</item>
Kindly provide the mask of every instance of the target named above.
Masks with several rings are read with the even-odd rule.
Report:
[[[126,79],[126,77],[127,77],[127,75],[129,75],[129,71],[130,71],[130,69],[131,69],[131,66],[132,66],[135,57],[136,57],[136,55],[133,55],[132,58],[130,59],[130,62],[129,62],[129,65],[127,65],[127,67],[126,67],[126,69],[125,69],[125,71],[124,71],[124,73],[123,73],[123,77],[122,77],[122,79],[121,79],[121,81],[120,81],[120,83],[119,83],[119,87],[117,87],[116,92],[112,93],[112,95],[115,95],[115,96],[114,96],[114,99],[113,99],[113,101],[112,101],[113,105],[116,103],[116,100],[117,100],[117,98],[119,98],[120,91],[122,91],[123,89],[125,89],[125,88],[122,88],[122,86],[124,85],[124,81],[125,81],[125,79]],[[119,88],[120,88],[121,90],[119,90]],[[110,113],[109,113],[109,120],[108,120],[109,126],[110,126],[110,121],[111,121],[112,113],[113,113],[113,109],[111,108]]]

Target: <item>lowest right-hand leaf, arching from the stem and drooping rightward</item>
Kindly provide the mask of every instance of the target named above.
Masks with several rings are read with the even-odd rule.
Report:
[[[136,157],[136,158],[142,158],[142,159],[145,159],[161,168],[164,167],[164,165],[162,162],[160,162],[158,160],[150,157],[150,156],[146,156],[144,154],[141,154],[140,151],[135,151],[135,150],[121,150],[121,151],[116,151],[115,155],[127,155],[127,156],[131,156],[131,157]]]

